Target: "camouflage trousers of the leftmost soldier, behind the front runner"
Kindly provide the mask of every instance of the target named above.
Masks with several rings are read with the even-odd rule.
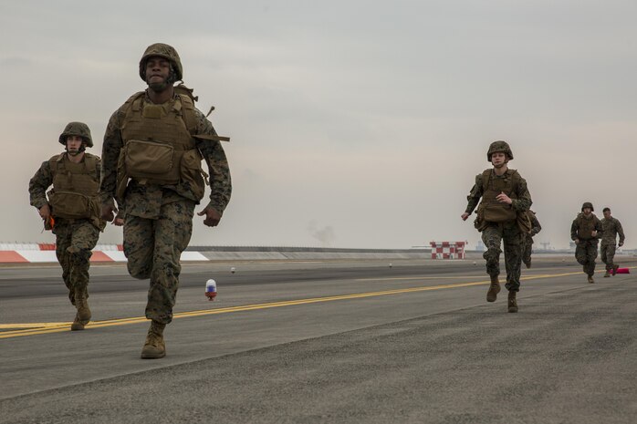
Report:
[[[62,265],[68,299],[75,305],[76,289],[86,289],[89,297],[89,259],[98,243],[99,230],[89,220],[57,218],[53,233],[56,234],[57,262]]]

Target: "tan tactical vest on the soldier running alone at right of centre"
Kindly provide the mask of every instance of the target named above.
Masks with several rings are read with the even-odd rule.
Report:
[[[486,222],[507,222],[517,220],[517,211],[510,204],[497,202],[496,197],[504,192],[511,199],[517,199],[520,174],[516,170],[506,170],[503,177],[496,177],[493,170],[482,173],[482,202],[478,214]]]

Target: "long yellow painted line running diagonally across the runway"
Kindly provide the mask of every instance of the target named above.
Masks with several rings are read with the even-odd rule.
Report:
[[[522,277],[522,279],[523,280],[538,280],[542,278],[557,278],[557,277],[576,275],[576,274],[581,274],[581,272],[563,273],[563,274],[528,275],[528,276]],[[426,278],[428,277],[420,277],[419,279],[423,280]],[[174,314],[173,318],[179,319],[179,318],[187,318],[187,317],[193,317],[193,316],[229,314],[234,312],[255,311],[255,310],[271,309],[271,308],[283,307],[283,306],[318,304],[322,302],[362,299],[366,297],[377,297],[381,295],[402,295],[407,293],[426,292],[431,290],[443,290],[443,289],[459,288],[459,287],[471,287],[475,285],[485,285],[485,284],[490,284],[490,281],[483,280],[483,281],[457,283],[457,284],[426,285],[422,287],[410,287],[410,288],[401,288],[401,289],[394,289],[394,290],[384,290],[381,292],[366,292],[366,293],[354,293],[350,295],[311,297],[308,299],[286,300],[281,302],[269,302],[265,304],[239,305],[239,306],[221,307],[216,309],[203,309],[199,311],[180,312],[180,313]],[[148,319],[145,316],[136,316],[131,318],[110,319],[106,321],[91,321],[87,327],[99,328],[99,327],[106,327],[106,326],[125,326],[129,324],[139,324],[139,323],[145,323],[145,322],[148,322]],[[36,335],[42,335],[42,334],[61,333],[65,331],[70,331],[70,324],[71,324],[70,322],[68,323],[5,324],[3,325],[4,328],[22,328],[22,329],[0,332],[0,338],[12,338],[12,337],[20,337],[20,336],[36,336]]]

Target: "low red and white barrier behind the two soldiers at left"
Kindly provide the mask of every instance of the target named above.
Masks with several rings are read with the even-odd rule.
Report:
[[[90,262],[126,262],[121,244],[98,244],[93,249]],[[183,252],[182,261],[207,261],[199,252]],[[55,243],[0,243],[2,263],[50,263],[57,262]]]

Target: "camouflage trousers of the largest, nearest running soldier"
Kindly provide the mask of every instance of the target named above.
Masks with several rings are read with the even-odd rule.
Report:
[[[146,317],[162,324],[172,321],[179,274],[180,257],[193,233],[194,202],[179,201],[162,205],[158,219],[131,214],[124,222],[124,254],[129,273],[151,279]]]

